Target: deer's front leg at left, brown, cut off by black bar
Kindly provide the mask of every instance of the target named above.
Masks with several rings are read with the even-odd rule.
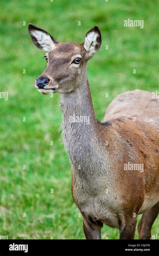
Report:
[[[101,239],[101,226],[93,225],[83,218],[83,229],[86,239]]]

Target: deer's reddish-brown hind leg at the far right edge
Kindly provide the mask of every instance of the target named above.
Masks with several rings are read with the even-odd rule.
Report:
[[[150,210],[147,210],[138,225],[139,239],[150,239],[151,227],[159,213],[159,202],[156,203]]]

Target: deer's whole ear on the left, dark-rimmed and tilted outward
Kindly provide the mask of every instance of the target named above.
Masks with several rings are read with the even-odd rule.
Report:
[[[54,49],[56,46],[56,41],[48,32],[45,30],[29,24],[28,26],[29,34],[31,35],[33,43],[43,51],[49,51]]]

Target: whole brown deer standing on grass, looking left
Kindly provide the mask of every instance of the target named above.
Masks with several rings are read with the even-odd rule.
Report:
[[[59,42],[33,24],[29,34],[47,52],[47,67],[35,88],[46,95],[60,93],[71,193],[86,239],[101,239],[103,224],[118,228],[119,239],[134,239],[140,214],[139,239],[150,239],[159,212],[158,98],[142,90],[124,92],[100,122],[87,78],[87,61],[101,46],[98,26],[86,33],[83,43]]]

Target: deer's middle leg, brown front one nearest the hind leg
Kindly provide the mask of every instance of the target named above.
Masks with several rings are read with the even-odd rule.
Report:
[[[120,222],[120,239],[134,239],[137,217]]]

